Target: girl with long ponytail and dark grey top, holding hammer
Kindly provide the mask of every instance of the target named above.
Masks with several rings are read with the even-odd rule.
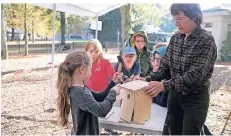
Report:
[[[83,51],[69,53],[59,66],[58,117],[60,124],[66,126],[71,112],[71,135],[99,135],[98,117],[109,113],[119,91],[112,88],[121,82],[119,73],[114,74],[107,88],[100,93],[88,88],[86,83],[91,76],[91,67],[91,59]]]

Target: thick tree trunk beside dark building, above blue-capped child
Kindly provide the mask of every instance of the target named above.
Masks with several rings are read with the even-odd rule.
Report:
[[[122,29],[122,46],[125,46],[125,41],[129,38],[129,32],[132,29],[131,26],[131,11],[130,11],[130,4],[122,6],[120,8],[121,14],[121,29]]]

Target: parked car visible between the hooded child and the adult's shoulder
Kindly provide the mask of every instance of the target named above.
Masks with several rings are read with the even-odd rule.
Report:
[[[168,45],[170,39],[171,39],[171,34],[168,33],[149,33],[147,34],[148,36],[148,45],[147,48],[149,50],[154,50],[155,46],[165,46]]]

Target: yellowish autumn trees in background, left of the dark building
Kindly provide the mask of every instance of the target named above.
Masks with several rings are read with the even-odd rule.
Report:
[[[2,36],[6,37],[6,26],[11,28],[11,41],[15,40],[15,30],[23,30],[25,41],[25,55],[28,55],[28,35],[31,34],[31,41],[35,42],[35,33],[39,36],[50,37],[52,36],[52,21],[53,21],[53,10],[40,8],[31,4],[1,4],[2,7]],[[67,25],[66,23],[69,23]],[[81,18],[75,15],[67,15],[65,13],[58,12],[56,16],[56,32],[61,32],[62,43],[65,44],[64,35],[66,30],[73,32],[73,28],[77,28],[75,32],[81,32],[85,18]],[[5,23],[5,24],[4,24]],[[68,26],[68,27],[67,27]],[[3,28],[3,26],[1,26]],[[4,30],[4,31],[3,31]],[[2,46],[6,41],[2,40]],[[5,46],[4,46],[5,47]],[[6,46],[7,47],[7,46]],[[3,48],[2,48],[3,49]],[[6,49],[7,50],[7,49]],[[3,52],[3,50],[2,50]],[[6,54],[8,54],[6,52]],[[6,58],[6,57],[5,57]]]

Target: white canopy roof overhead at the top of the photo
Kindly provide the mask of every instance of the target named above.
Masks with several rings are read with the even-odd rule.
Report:
[[[33,3],[32,5],[42,8],[54,9],[53,3]],[[56,3],[56,10],[68,14],[75,14],[82,17],[96,17],[106,14],[125,4],[73,4],[73,3]]]

